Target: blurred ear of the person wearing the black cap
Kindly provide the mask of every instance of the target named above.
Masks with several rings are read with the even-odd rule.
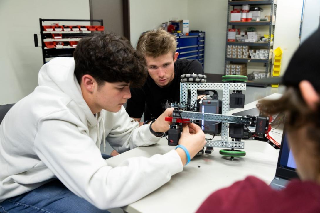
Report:
[[[319,103],[320,97],[312,84],[307,80],[299,83],[300,93],[303,100],[307,103],[311,110],[316,110],[316,104]]]

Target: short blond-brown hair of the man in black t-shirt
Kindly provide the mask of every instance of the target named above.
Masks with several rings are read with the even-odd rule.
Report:
[[[140,35],[137,51],[144,56],[158,57],[177,50],[177,40],[163,28],[150,30]]]

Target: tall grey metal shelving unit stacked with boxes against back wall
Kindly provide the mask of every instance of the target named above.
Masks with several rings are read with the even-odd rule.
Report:
[[[256,1],[228,1],[228,18],[227,18],[227,32],[230,29],[235,28],[235,26],[268,26],[269,31],[268,35],[271,38],[271,34],[275,32],[275,20],[273,20],[273,16],[276,16],[276,3],[277,0],[256,0]],[[230,7],[232,6],[239,6],[243,4],[249,5],[270,5],[270,21],[259,21],[259,22],[232,22],[230,21]],[[227,57],[227,47],[228,45],[239,45],[239,46],[249,46],[249,47],[262,47],[266,49],[273,48],[273,41],[269,39],[268,42],[261,43],[261,42],[228,42],[228,33],[226,36],[226,53],[225,53],[225,69],[226,65],[230,62],[240,62],[240,63],[261,63],[265,66],[265,74],[271,75],[271,68],[272,68],[272,56],[270,56],[270,51],[268,51],[268,56],[266,60],[263,59],[251,59],[251,58],[228,58]],[[272,53],[271,53],[272,54]],[[270,59],[269,59],[270,58]],[[255,84],[251,81],[247,82],[248,86],[258,86],[261,87],[261,84]],[[263,87],[267,87],[268,85],[262,85]]]

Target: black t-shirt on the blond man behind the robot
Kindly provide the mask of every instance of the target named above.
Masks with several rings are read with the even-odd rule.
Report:
[[[147,103],[145,120],[158,118],[171,103],[180,101],[180,76],[183,74],[204,74],[197,60],[177,59],[174,63],[174,78],[168,87],[161,88],[148,76],[142,88],[130,89],[131,98],[127,102],[127,113],[132,118],[141,118]]]

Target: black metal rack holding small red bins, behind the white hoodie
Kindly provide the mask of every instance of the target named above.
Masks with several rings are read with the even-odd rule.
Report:
[[[80,40],[84,36],[88,36],[92,33],[101,33],[103,31],[44,31],[44,22],[88,22],[88,23],[100,23],[99,26],[103,26],[102,19],[39,19],[39,26],[40,26],[40,37],[41,37],[41,49],[42,49],[42,59],[43,63],[45,64],[47,58],[52,57],[72,57],[75,47],[63,47],[63,48],[46,48],[44,40],[50,41],[73,41],[73,40]],[[50,24],[46,24],[50,25]],[[81,25],[81,24],[79,24]],[[61,38],[54,39],[52,38],[52,34],[61,34]],[[34,41],[35,46],[38,47],[38,35],[34,34]]]

